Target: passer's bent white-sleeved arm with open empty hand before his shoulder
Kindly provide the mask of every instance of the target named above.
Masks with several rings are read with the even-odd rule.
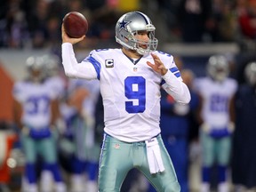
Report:
[[[190,92],[188,86],[182,82],[180,72],[172,73],[169,68],[166,68],[163,61],[156,54],[151,53],[154,63],[147,62],[148,66],[152,68],[156,73],[160,74],[164,79],[162,87],[168,94],[172,96],[177,102],[188,104],[190,101]],[[172,58],[173,60],[173,58]],[[174,63],[174,61],[173,61]],[[176,67],[176,65],[174,64]],[[177,68],[177,67],[176,67]],[[177,68],[179,70],[179,68]]]

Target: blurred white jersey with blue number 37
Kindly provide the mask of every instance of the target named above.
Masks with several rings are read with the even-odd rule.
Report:
[[[50,125],[52,116],[50,103],[55,94],[46,84],[17,82],[14,84],[12,94],[22,105],[22,124],[33,129],[46,128]]]

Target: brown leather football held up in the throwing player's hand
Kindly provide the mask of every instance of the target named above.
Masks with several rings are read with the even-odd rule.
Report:
[[[63,25],[72,38],[84,36],[88,31],[88,21],[81,12],[68,12],[63,18]]]

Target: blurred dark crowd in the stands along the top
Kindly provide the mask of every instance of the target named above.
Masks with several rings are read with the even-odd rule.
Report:
[[[92,42],[84,46],[113,43],[116,20],[132,10],[152,18],[160,42],[236,42],[245,46],[256,36],[255,4],[254,0],[3,0],[0,47],[58,47],[61,20],[71,11],[83,12],[89,20],[87,37]]]

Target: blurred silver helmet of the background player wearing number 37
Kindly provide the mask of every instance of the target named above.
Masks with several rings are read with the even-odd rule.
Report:
[[[45,77],[44,62],[41,57],[30,56],[26,60],[28,79],[33,82],[41,82]]]

